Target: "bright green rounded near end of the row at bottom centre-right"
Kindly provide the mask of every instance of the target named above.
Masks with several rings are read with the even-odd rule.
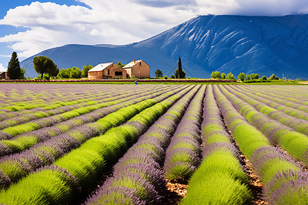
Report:
[[[181,204],[253,204],[248,177],[234,156],[231,143],[211,143],[188,183]]]

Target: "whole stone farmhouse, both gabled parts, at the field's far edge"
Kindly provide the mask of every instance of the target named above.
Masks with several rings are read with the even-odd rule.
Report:
[[[150,67],[143,60],[136,59],[123,68],[114,63],[99,64],[88,71],[88,79],[150,78]]]

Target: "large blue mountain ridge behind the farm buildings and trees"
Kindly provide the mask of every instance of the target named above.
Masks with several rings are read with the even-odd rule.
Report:
[[[212,71],[272,73],[287,79],[308,79],[308,15],[197,16],[157,36],[127,45],[68,44],[37,55],[53,59],[58,68],[143,59],[170,76],[181,56],[186,77],[209,78]],[[25,76],[37,76],[32,59],[21,62]]]

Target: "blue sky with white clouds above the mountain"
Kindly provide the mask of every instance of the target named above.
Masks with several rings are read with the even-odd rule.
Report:
[[[22,61],[64,44],[129,44],[197,15],[298,13],[308,13],[307,0],[4,0],[0,70],[8,67],[13,51]]]

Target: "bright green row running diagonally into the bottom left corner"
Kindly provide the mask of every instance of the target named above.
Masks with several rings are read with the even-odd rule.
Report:
[[[63,178],[61,172],[35,172],[19,180],[9,189],[0,192],[0,203],[3,204],[66,204],[74,203],[74,199],[88,194],[95,187],[95,183],[107,167],[118,161],[129,146],[138,139],[146,130],[146,125],[137,119],[144,119],[146,124],[153,123],[162,113],[166,112],[179,98],[192,89],[192,85],[181,92],[177,92],[166,100],[156,103],[153,107],[145,109],[133,117],[127,124],[110,129],[104,135],[94,137],[79,148],[69,152],[61,159],[55,161],[54,165],[66,169],[66,172],[77,181],[80,192],[70,183],[71,178]],[[136,107],[137,108],[137,107]],[[147,120],[145,120],[147,119]],[[150,122],[151,121],[151,122]],[[142,126],[143,124],[143,126]],[[47,170],[47,171],[46,171]],[[48,172],[48,178],[43,178]],[[51,180],[52,179],[52,180]],[[54,182],[58,187],[53,186]],[[44,192],[42,192],[44,187]],[[30,190],[28,195],[23,190]],[[57,195],[53,195],[57,193]]]

